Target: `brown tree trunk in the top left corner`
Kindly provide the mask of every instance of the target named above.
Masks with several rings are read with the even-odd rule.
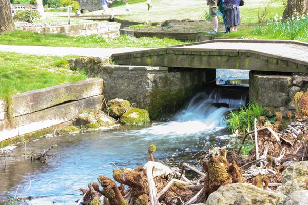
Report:
[[[0,0],[0,33],[14,31],[15,25],[9,0]]]

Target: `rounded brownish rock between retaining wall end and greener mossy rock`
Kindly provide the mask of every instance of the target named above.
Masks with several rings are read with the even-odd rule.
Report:
[[[120,118],[129,108],[129,101],[123,99],[112,99],[107,103],[108,114],[115,119]]]

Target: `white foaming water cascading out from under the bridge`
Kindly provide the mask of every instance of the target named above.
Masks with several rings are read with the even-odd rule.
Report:
[[[225,114],[242,105],[246,99],[227,99],[219,92],[210,95],[198,93],[191,99],[187,109],[178,112],[172,121],[136,131],[135,134],[155,134],[156,137],[203,135],[226,127]]]

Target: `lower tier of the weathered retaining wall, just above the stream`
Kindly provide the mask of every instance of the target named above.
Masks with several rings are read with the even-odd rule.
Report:
[[[102,100],[103,95],[97,95],[0,121],[0,141],[73,120],[83,111],[96,111]]]

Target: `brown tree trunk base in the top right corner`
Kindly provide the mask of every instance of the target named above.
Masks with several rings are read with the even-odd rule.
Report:
[[[302,16],[308,12],[307,0],[287,0],[286,8],[283,12],[283,19],[288,19],[292,16]]]

